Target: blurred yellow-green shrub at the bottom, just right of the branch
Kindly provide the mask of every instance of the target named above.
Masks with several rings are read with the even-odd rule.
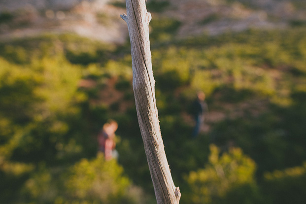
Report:
[[[231,148],[222,156],[219,154],[220,149],[210,145],[205,168],[190,172],[186,178],[189,192],[184,203],[260,203],[254,177],[255,162],[243,155],[239,148]]]

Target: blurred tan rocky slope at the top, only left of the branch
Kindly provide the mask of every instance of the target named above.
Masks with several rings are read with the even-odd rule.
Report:
[[[41,33],[76,33],[113,43],[123,43],[127,26],[119,14],[125,9],[106,0],[6,0],[0,3],[0,38]]]

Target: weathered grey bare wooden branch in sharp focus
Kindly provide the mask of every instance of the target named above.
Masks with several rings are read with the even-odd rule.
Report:
[[[149,41],[149,22],[145,0],[126,0],[127,15],[121,15],[128,24],[133,66],[133,89],[144,149],[158,204],[178,204],[179,188],[175,187],[160,131],[155,101]]]

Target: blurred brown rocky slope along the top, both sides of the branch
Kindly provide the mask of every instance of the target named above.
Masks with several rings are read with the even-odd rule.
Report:
[[[287,28],[305,24],[303,0],[148,0],[169,2],[153,18],[181,22],[178,37],[239,32],[249,28]],[[0,39],[41,33],[72,32],[93,39],[124,43],[127,26],[119,17],[124,0],[2,0]],[[121,5],[118,6],[118,4]],[[117,5],[117,6],[115,6]]]

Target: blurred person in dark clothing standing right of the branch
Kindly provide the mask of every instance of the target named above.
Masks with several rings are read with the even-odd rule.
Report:
[[[205,94],[202,91],[197,93],[197,99],[192,104],[192,115],[196,125],[192,132],[192,137],[195,138],[199,135],[201,125],[204,123],[204,114],[208,111],[207,103],[205,102]]]

